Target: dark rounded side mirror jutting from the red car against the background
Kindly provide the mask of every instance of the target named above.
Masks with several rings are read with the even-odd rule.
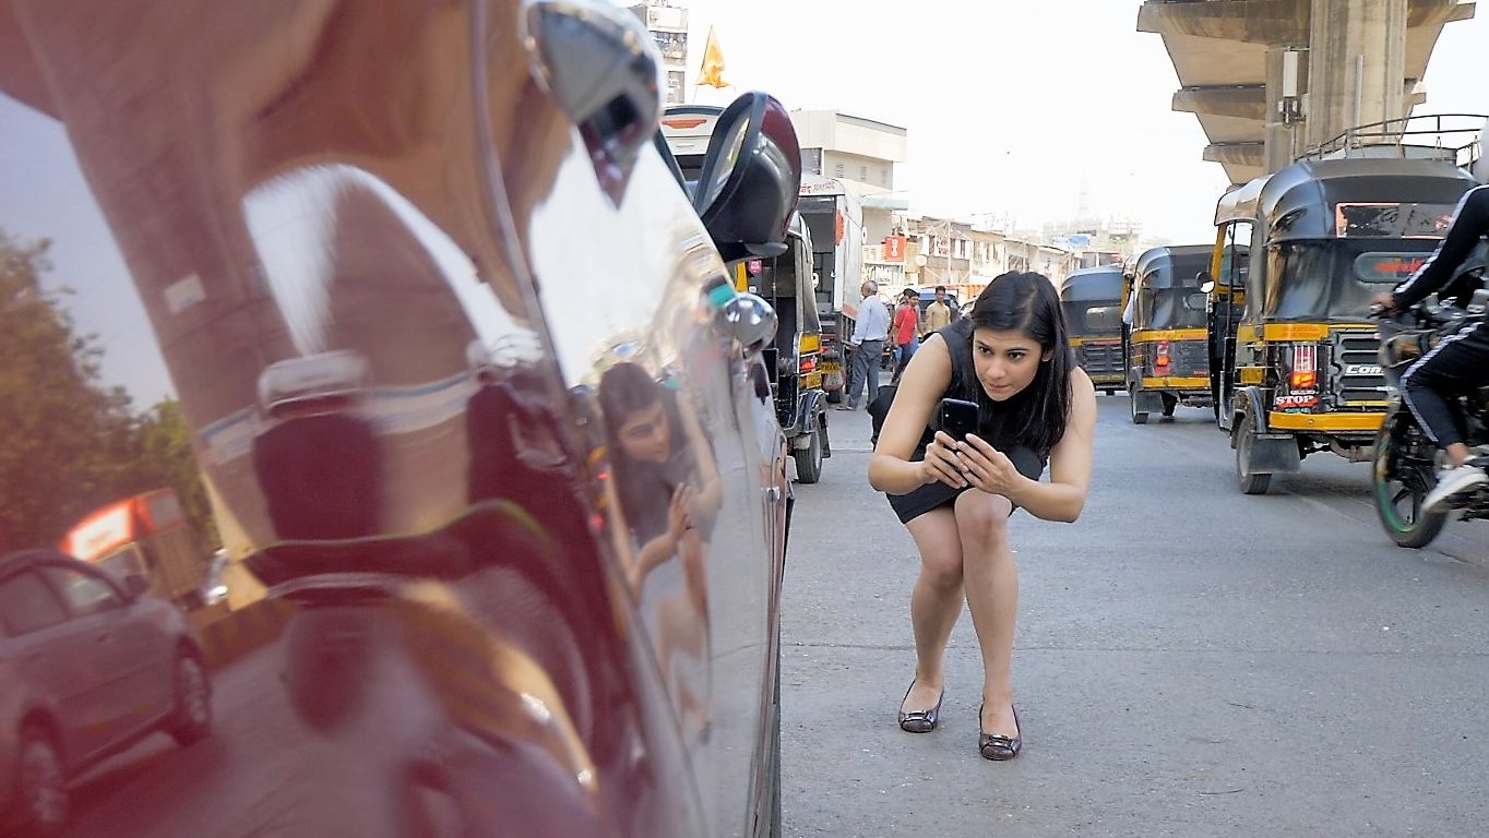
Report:
[[[692,193],[692,207],[725,262],[786,253],[801,192],[801,146],[786,107],[749,92],[724,109]]]

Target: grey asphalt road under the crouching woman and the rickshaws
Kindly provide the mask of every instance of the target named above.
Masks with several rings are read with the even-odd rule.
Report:
[[[968,615],[941,728],[895,725],[917,557],[868,487],[868,418],[831,412],[782,604],[785,834],[1482,835],[1489,524],[1400,549],[1367,464],[1316,454],[1245,497],[1209,411],[1139,427],[1126,396],[1099,405],[1081,519],[1013,521],[1005,764],[977,755]]]

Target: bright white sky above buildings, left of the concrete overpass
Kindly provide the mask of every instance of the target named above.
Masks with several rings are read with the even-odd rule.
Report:
[[[1178,77],[1163,39],[1136,31],[1136,0],[673,3],[691,10],[689,82],[715,25],[737,91],[908,128],[896,189],[913,211],[1036,225],[1072,216],[1084,183],[1093,213],[1136,217],[1145,235],[1212,237],[1228,179],[1200,159],[1194,115],[1170,110]],[[1486,45],[1489,6],[1446,27],[1416,113],[1489,110]]]

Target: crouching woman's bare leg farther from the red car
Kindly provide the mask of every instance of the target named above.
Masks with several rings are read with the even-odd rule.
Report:
[[[1007,497],[977,490],[956,500],[966,604],[983,650],[983,731],[1004,737],[1018,735],[1010,671],[1018,622],[1018,564],[1008,546],[1011,509]]]

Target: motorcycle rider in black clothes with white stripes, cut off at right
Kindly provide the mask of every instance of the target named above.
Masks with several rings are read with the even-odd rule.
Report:
[[[1471,287],[1452,284],[1453,274],[1480,238],[1489,234],[1489,186],[1477,186],[1458,202],[1452,226],[1432,256],[1406,281],[1371,302],[1389,311],[1404,311],[1434,292],[1467,302]],[[1429,353],[1401,375],[1401,394],[1422,430],[1447,452],[1447,463],[1437,472],[1437,485],[1422,500],[1423,512],[1437,512],[1447,499],[1489,482],[1489,475],[1468,463],[1464,444],[1444,394],[1489,383],[1489,324],[1470,320],[1456,333],[1443,338]]]

